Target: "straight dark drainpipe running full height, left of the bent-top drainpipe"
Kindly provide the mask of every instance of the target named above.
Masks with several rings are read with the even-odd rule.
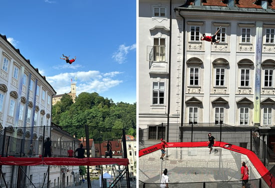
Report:
[[[167,142],[169,141],[169,115],[170,115],[170,97],[171,97],[171,35],[172,35],[172,0],[170,0],[170,26],[169,26],[169,74],[168,74],[168,107],[167,107]]]

